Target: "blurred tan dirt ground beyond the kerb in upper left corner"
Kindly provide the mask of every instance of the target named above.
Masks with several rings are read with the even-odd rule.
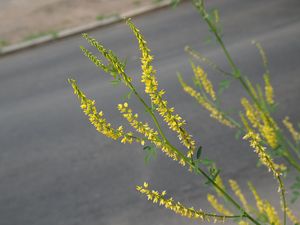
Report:
[[[4,46],[32,40],[159,2],[161,1],[1,0],[0,42]]]

